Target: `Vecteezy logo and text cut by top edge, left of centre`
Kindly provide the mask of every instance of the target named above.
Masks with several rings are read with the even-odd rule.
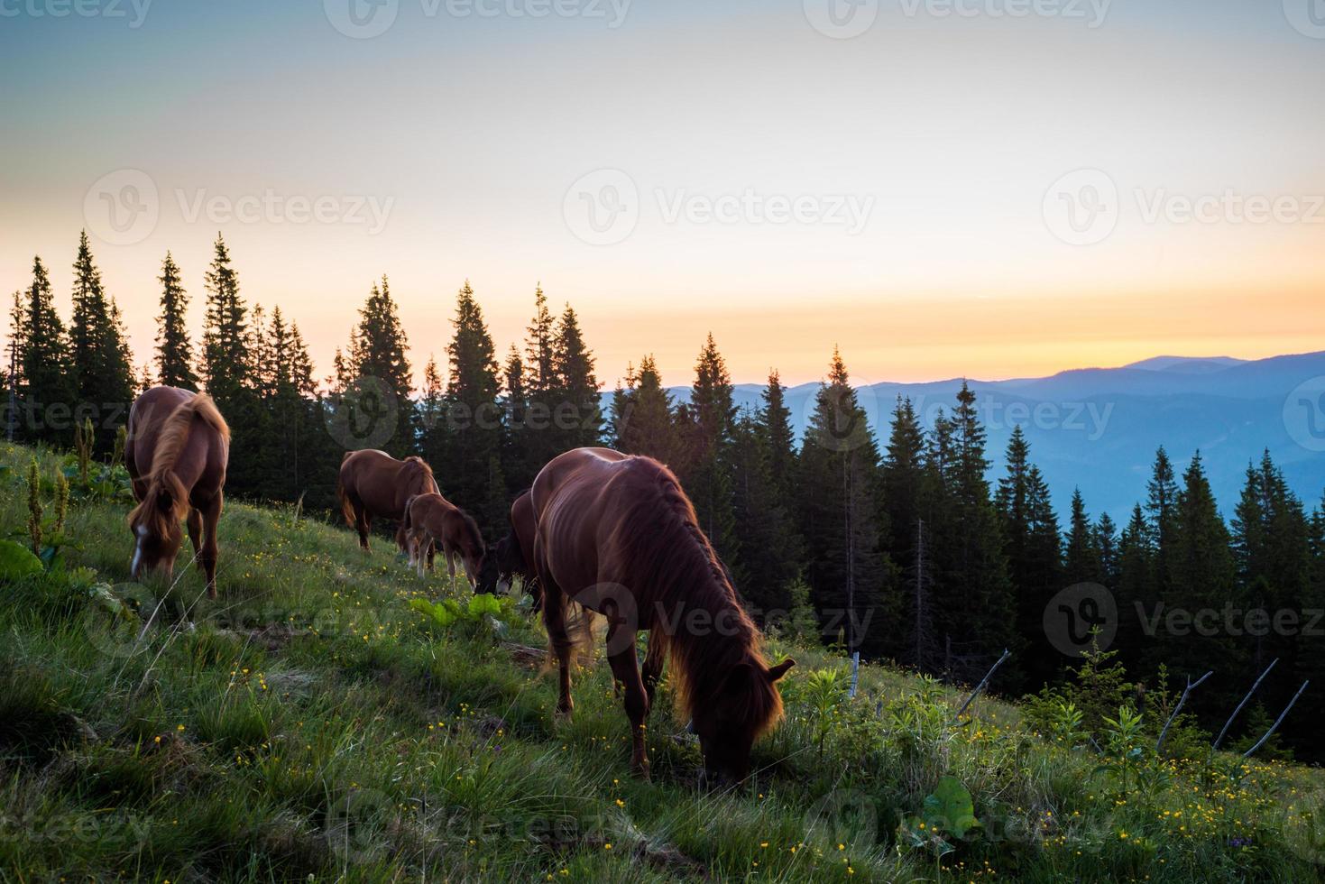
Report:
[[[610,30],[625,23],[632,0],[419,0],[425,19],[586,19]],[[331,27],[346,37],[380,37],[396,23],[400,0],[322,0]]]

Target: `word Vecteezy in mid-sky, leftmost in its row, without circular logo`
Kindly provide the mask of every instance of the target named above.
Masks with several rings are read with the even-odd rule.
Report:
[[[368,236],[380,233],[396,204],[396,197],[374,195],[307,196],[278,193],[270,187],[261,193],[208,193],[205,187],[175,188],[179,213],[187,224],[205,219],[208,224],[347,224],[363,225]]]

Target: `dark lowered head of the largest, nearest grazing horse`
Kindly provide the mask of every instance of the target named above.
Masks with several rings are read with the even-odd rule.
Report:
[[[787,657],[766,667],[750,655],[727,672],[704,708],[693,709],[693,729],[710,785],[738,783],[750,773],[750,747],[782,716],[778,680],[794,665],[796,661]]]

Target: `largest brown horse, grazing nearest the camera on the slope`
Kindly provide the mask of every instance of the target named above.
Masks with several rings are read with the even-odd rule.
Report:
[[[543,467],[531,497],[543,622],[560,665],[558,712],[570,716],[574,705],[575,639],[566,618],[574,600],[607,618],[608,661],[625,688],[632,767],[648,777],[643,728],[652,691],[640,677],[635,635],[649,630],[647,665],[670,660],[677,708],[693,720],[705,773],[718,782],[745,779],[750,747],[782,716],[776,681],[794,661],[771,668],[765,661],[759,631],[672,470],[651,457],[576,448]]]

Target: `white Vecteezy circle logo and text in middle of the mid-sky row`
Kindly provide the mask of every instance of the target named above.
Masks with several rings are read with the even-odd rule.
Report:
[[[865,229],[873,195],[765,193],[753,187],[730,193],[696,193],[688,188],[655,188],[652,204],[662,224],[824,225]],[[635,232],[648,200],[635,179],[619,168],[582,175],[566,191],[562,216],[570,232],[590,245],[615,245]]]

